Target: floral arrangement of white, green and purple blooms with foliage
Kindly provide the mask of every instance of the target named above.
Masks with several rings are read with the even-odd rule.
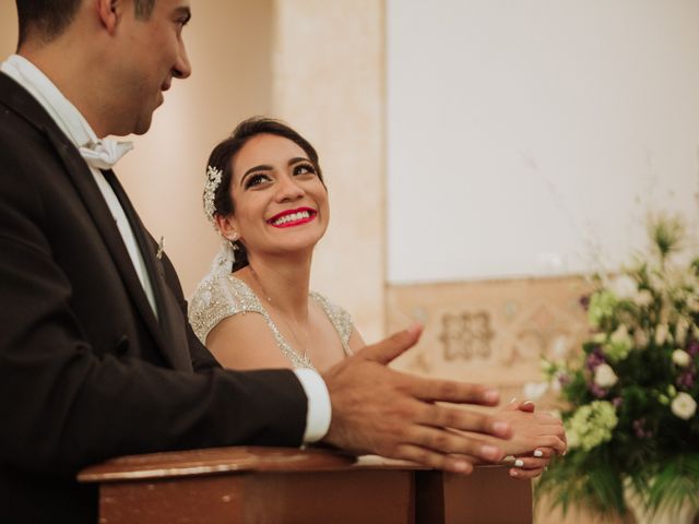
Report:
[[[649,233],[650,257],[615,278],[596,276],[581,299],[591,325],[582,353],[544,360],[569,451],[536,496],[564,511],[623,515],[629,496],[651,514],[699,508],[699,258],[677,262],[680,221],[655,219]]]

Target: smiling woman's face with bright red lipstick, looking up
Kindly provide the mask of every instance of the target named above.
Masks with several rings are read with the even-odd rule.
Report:
[[[328,191],[296,143],[258,134],[233,159],[229,226],[248,255],[312,249],[328,227]]]

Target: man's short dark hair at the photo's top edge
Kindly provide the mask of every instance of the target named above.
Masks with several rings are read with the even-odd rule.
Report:
[[[31,32],[43,40],[51,41],[70,25],[82,0],[15,0],[20,19],[20,47]],[[135,15],[147,19],[155,0],[134,0]]]

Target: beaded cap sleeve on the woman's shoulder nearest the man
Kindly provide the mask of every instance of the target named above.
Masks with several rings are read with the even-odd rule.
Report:
[[[188,309],[194,333],[205,344],[206,335],[223,319],[234,314],[262,313],[262,305],[240,278],[230,273],[214,273],[199,283]]]

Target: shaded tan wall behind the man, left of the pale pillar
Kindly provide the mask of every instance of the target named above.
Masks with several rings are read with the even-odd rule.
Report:
[[[217,238],[201,209],[213,145],[271,106],[271,0],[194,2],[186,39],[193,74],[175,81],[151,131],[117,175],[153,236],[164,237],[186,294],[209,270]],[[0,57],[14,51],[16,9],[0,2]]]

